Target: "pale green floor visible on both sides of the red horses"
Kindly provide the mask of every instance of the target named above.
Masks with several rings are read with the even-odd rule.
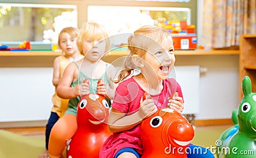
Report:
[[[195,138],[192,143],[199,146],[216,146],[215,142],[225,129],[195,129]],[[20,136],[12,132],[0,130],[0,157],[1,158],[36,158],[44,152],[44,139]]]

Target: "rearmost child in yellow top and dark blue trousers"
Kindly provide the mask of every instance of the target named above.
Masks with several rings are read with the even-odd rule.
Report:
[[[45,128],[45,151],[39,155],[40,158],[48,157],[48,143],[52,126],[61,116],[64,115],[68,106],[68,100],[61,99],[56,93],[56,88],[58,86],[60,78],[70,62],[83,58],[83,56],[78,51],[76,45],[76,39],[78,34],[79,29],[68,27],[62,29],[60,35],[58,36],[58,46],[60,47],[63,55],[56,57],[53,62],[52,84],[55,87],[55,93],[52,96],[53,107],[51,110],[51,115]]]

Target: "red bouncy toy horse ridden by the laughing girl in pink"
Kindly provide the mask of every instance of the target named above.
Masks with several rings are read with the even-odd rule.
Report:
[[[141,123],[141,158],[186,158],[194,135],[193,125],[182,114],[170,108],[159,109]]]

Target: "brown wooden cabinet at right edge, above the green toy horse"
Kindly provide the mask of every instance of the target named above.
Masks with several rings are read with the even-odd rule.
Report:
[[[239,58],[239,83],[248,75],[252,81],[252,91],[256,92],[256,35],[241,35]],[[240,86],[240,99],[243,98],[242,85]]]

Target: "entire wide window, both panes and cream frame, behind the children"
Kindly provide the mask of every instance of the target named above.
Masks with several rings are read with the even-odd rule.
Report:
[[[102,10],[97,7],[102,7]],[[113,12],[111,10],[106,12],[105,8],[108,7],[113,7]],[[100,19],[96,19],[97,22],[102,24],[102,19],[104,20],[104,24],[111,32],[110,35],[132,32],[142,25],[139,20],[136,20],[137,17],[132,17],[138,15],[134,13],[125,18],[116,17],[116,15],[109,17],[110,13],[114,14],[120,10],[120,7],[124,7],[122,9],[125,12],[129,9],[134,10],[134,13],[140,14],[138,18],[142,19],[141,22],[147,20],[147,24],[166,25],[167,23],[163,22],[164,19],[178,19],[196,25],[197,0],[2,0],[0,3],[0,43],[23,41],[55,43],[62,28],[67,26],[80,28],[84,22],[95,19],[94,15]],[[125,15],[125,12],[120,13]],[[93,13],[96,14],[93,15]],[[113,24],[111,25],[111,22],[107,24],[106,19]],[[132,21],[138,22],[137,26]],[[166,25],[166,27],[169,26]]]

